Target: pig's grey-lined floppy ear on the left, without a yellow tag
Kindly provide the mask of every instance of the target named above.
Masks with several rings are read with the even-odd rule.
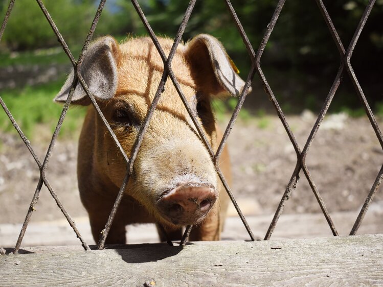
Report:
[[[81,65],[81,76],[96,99],[108,100],[116,92],[118,52],[118,44],[112,37],[97,40],[85,51]],[[60,92],[56,95],[56,102],[64,103],[66,101],[74,77],[75,73],[72,70]],[[84,106],[91,103],[80,83],[76,86],[72,103]]]

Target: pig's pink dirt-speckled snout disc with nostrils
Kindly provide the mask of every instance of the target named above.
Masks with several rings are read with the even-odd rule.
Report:
[[[157,206],[162,216],[173,224],[198,224],[209,213],[216,200],[215,188],[189,182],[165,192]]]

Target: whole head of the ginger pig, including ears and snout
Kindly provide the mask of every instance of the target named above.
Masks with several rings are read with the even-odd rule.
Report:
[[[159,41],[168,54],[173,40]],[[244,86],[233,67],[221,44],[209,35],[179,44],[172,60],[177,81],[214,150],[216,127],[210,101],[219,95],[238,95]],[[104,37],[85,52],[81,75],[128,157],[163,70],[150,38],[132,38],[118,44],[114,38]],[[67,99],[73,79],[74,72],[55,98],[57,102]],[[80,84],[72,103],[91,104]],[[90,106],[88,113],[92,112]],[[82,134],[95,141],[93,158],[82,160],[93,160],[94,169],[119,187],[126,163],[101,119],[95,116],[92,120],[96,121],[94,130],[83,129]],[[79,156],[81,150],[80,146]],[[166,225],[198,224],[219,197],[212,158],[170,79],[144,135],[125,192]]]

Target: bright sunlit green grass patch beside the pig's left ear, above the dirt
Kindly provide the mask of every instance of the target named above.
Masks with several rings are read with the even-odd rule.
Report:
[[[24,134],[33,139],[37,125],[44,125],[53,133],[63,106],[53,102],[64,79],[38,86],[3,90],[0,94]],[[72,107],[68,111],[61,136],[70,137],[82,124],[85,109]],[[17,133],[6,113],[0,109],[0,130]]]

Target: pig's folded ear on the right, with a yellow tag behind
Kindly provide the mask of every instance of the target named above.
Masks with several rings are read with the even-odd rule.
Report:
[[[200,34],[187,43],[185,53],[197,86],[216,95],[238,96],[241,93],[245,82],[236,73],[238,69],[216,38]],[[247,92],[251,92],[251,87]]]

